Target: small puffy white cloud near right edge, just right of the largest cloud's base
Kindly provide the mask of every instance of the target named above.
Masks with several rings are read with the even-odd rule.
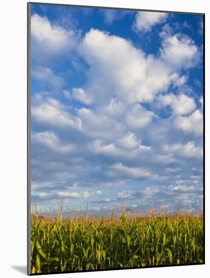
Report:
[[[160,96],[159,100],[163,106],[171,106],[175,115],[186,115],[193,112],[196,108],[194,99],[184,94],[178,96],[167,94]]]

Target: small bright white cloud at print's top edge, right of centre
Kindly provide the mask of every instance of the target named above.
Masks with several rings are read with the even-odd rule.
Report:
[[[165,22],[168,16],[167,13],[137,12],[133,27],[137,32],[148,32],[154,25]]]

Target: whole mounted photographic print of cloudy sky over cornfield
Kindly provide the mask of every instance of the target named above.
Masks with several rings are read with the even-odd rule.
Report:
[[[204,264],[203,103],[204,14],[28,3],[28,274]]]

